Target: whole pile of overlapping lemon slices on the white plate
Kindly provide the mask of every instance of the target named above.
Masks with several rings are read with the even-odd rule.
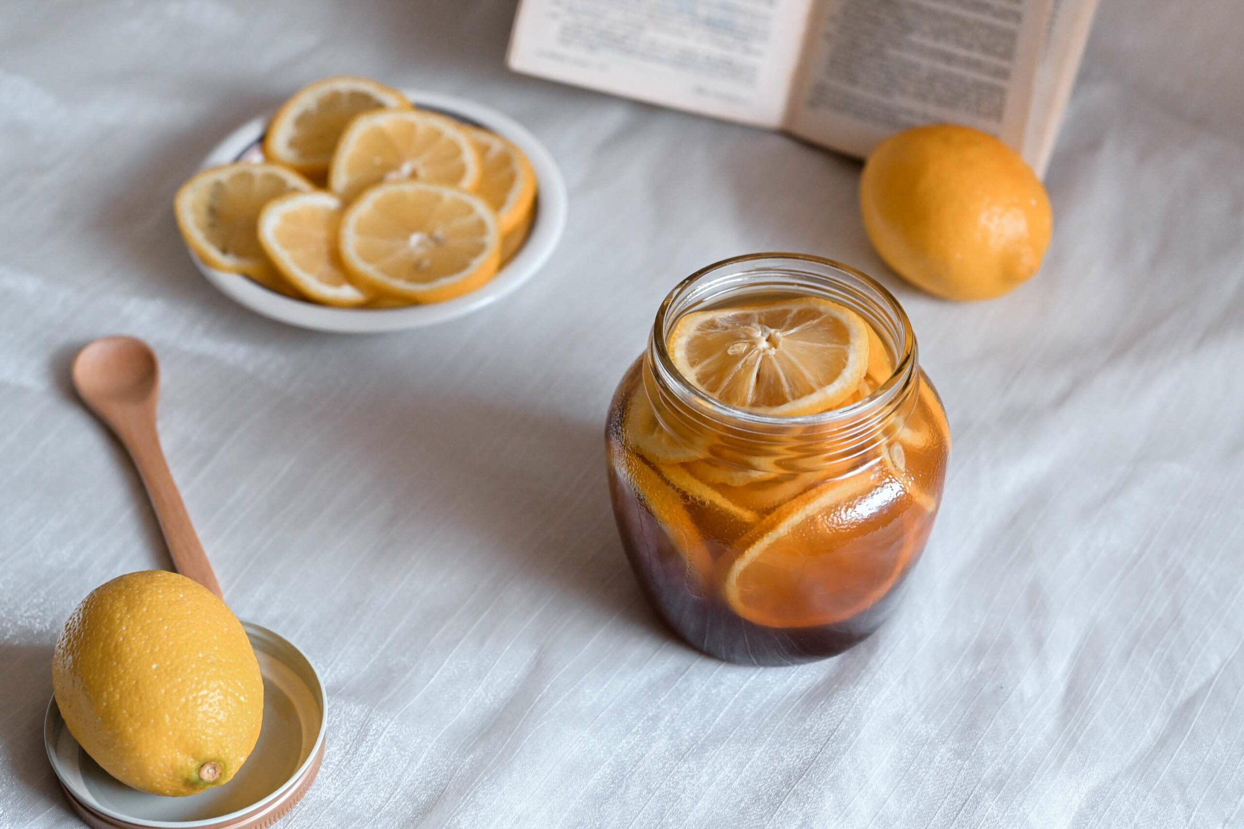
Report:
[[[264,154],[187,181],[178,226],[204,263],[311,302],[382,308],[474,291],[535,213],[518,147],[367,78],[299,91]]]

